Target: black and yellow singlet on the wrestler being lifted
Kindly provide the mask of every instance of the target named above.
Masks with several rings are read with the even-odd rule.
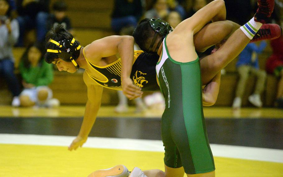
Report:
[[[83,49],[85,56],[85,50]],[[97,84],[103,87],[115,90],[122,90],[121,87],[121,58],[106,66],[97,66],[89,62],[85,56],[86,62],[92,69],[100,73],[105,79],[100,80],[91,76],[87,71],[88,76]],[[159,59],[157,55],[150,55],[141,50],[134,52],[134,61],[131,71],[131,79],[133,83],[142,90],[158,90],[159,86],[156,83],[155,66]]]

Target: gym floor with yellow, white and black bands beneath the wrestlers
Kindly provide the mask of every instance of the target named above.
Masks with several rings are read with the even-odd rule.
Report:
[[[86,144],[70,152],[84,106],[0,106],[0,177],[86,177],[118,164],[164,170],[162,110],[113,110],[102,107]],[[283,177],[283,110],[212,107],[204,114],[217,177]]]

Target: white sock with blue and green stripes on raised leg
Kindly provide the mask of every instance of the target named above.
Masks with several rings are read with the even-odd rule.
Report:
[[[248,36],[249,39],[253,39],[253,36],[257,33],[262,23],[254,21],[254,17],[246,24],[240,27],[240,29]]]

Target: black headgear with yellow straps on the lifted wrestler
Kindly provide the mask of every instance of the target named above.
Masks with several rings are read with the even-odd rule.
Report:
[[[78,41],[75,40],[75,38],[73,38],[72,40],[63,39],[61,41],[54,41],[53,39],[51,39],[49,42],[55,44],[55,48],[47,49],[47,52],[57,53],[58,58],[67,62],[72,62],[77,70],[80,68],[80,66],[75,61],[78,58],[78,55],[75,55],[75,51],[80,50],[81,45]]]

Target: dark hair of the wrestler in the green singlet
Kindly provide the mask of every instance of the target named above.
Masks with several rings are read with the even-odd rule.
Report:
[[[155,34],[155,31],[152,29],[149,20],[150,19],[148,18],[143,19],[137,25],[132,35],[135,38],[135,41],[137,45],[141,48],[141,50],[147,50],[149,48],[152,38]]]

